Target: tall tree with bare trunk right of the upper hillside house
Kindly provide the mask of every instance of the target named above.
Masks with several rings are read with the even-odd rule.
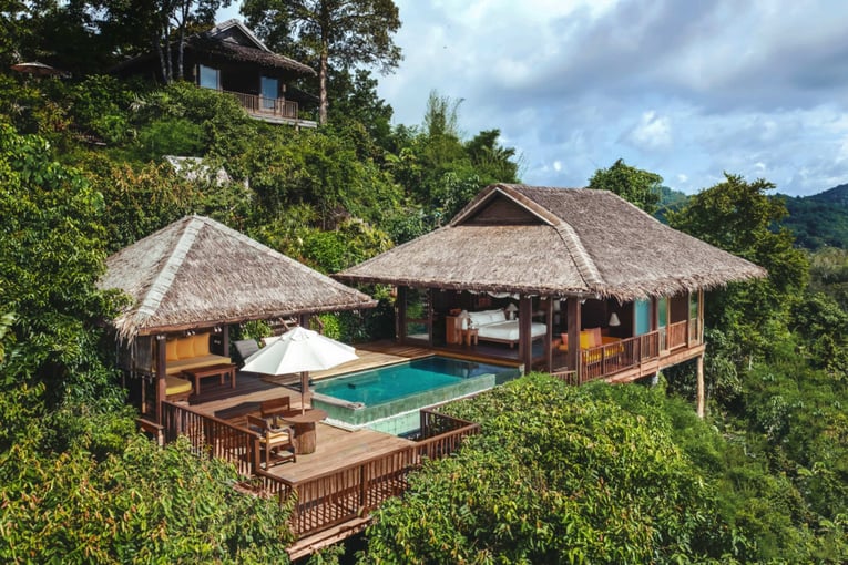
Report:
[[[318,61],[321,124],[330,64],[376,65],[387,73],[401,58],[391,38],[400,29],[392,0],[244,0],[242,13],[272,49],[292,53],[299,45]]]

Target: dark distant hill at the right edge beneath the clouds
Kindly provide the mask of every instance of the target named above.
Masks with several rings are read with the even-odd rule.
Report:
[[[848,249],[848,184],[813,196],[776,197],[784,198],[789,210],[789,217],[781,225],[795,233],[800,247]]]

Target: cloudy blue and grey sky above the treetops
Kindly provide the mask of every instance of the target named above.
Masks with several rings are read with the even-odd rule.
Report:
[[[617,158],[687,194],[724,172],[795,196],[848,183],[844,0],[395,2],[394,122],[461,100],[466,138],[500,130],[527,184],[585,186]]]

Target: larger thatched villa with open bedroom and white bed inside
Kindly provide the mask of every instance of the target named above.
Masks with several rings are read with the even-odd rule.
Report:
[[[657,347],[668,348],[675,345],[668,342],[672,328],[683,323],[686,349],[699,357],[703,291],[765,276],[765,269],[672,229],[610,192],[497,184],[447,226],[335,278],[398,287],[398,338],[426,339],[431,346],[456,343],[459,322],[451,312],[473,315],[518,300],[519,359],[528,368],[555,370],[553,353],[568,346],[560,348],[554,335],[576,343],[589,327],[622,340],[656,333]],[[403,319],[413,306],[409,289],[418,289],[412,294],[422,297],[427,310],[416,315],[423,331],[415,333]],[[562,319],[559,312],[565,310]],[[533,318],[546,328],[537,331]],[[479,338],[484,339],[482,328]],[[533,340],[543,341],[535,353]],[[568,353],[568,369],[589,369],[579,362],[578,348]]]

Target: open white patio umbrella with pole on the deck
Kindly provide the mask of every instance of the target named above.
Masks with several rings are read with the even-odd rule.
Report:
[[[331,369],[354,359],[359,357],[353,347],[298,326],[248,357],[242,370],[275,377],[300,373],[303,412],[309,389],[309,371]]]

